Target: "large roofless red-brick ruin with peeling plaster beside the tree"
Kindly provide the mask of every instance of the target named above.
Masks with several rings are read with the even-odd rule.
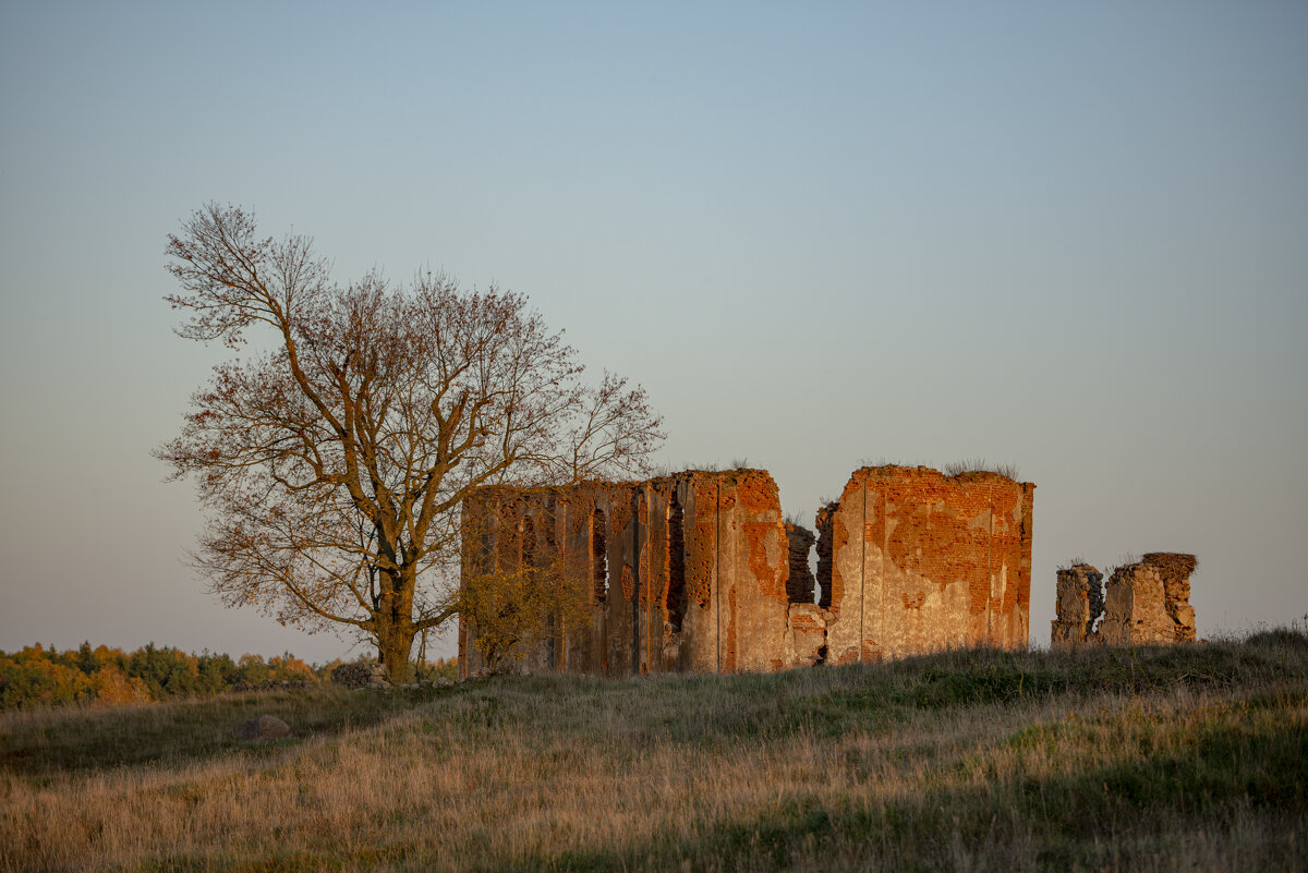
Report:
[[[769,672],[1024,648],[1033,493],[997,473],[862,468],[815,535],[783,520],[759,469],[485,489],[464,503],[463,574],[492,562],[513,576],[555,554],[593,580],[586,621],[514,652],[534,670]],[[460,618],[464,676],[484,667],[476,642]]]

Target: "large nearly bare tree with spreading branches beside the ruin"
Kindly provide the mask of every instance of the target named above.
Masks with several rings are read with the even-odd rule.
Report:
[[[458,609],[458,508],[493,484],[644,473],[663,435],[644,389],[582,379],[521,294],[445,276],[331,281],[309,239],[260,238],[209,204],[169,235],[178,335],[268,352],[215,367],[156,450],[196,482],[195,565],[228,605],[305,630],[349,626],[392,680]]]

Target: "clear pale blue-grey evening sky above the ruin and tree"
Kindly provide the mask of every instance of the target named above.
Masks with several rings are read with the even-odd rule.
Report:
[[[1016,465],[1056,567],[1199,558],[1305,619],[1308,5],[0,4],[0,650],[361,653],[229,610],[150,450],[208,201],[341,282],[525,293],[658,461],[811,518],[865,463]]]

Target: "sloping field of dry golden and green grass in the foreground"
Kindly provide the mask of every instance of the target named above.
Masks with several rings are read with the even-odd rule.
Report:
[[[1308,636],[0,716],[0,870],[878,868],[1308,869]]]

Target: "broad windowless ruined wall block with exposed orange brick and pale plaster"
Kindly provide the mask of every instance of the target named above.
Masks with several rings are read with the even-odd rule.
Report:
[[[831,576],[818,579],[831,589],[828,659],[1024,647],[1035,487],[998,473],[855,470],[819,514],[832,550]]]

